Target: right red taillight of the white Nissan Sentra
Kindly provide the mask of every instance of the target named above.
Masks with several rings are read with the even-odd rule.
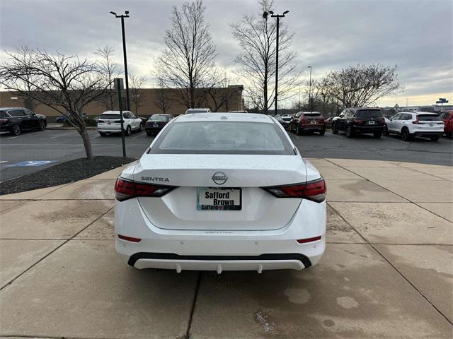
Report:
[[[304,184],[292,184],[285,186],[262,187],[277,198],[304,198],[316,203],[321,203],[326,199],[326,182],[321,177]]]

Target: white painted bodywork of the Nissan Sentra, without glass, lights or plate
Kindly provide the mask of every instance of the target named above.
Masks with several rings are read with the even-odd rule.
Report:
[[[178,121],[212,121],[224,114],[193,114]],[[234,121],[277,124],[261,114],[229,113]],[[163,135],[163,131],[151,143]],[[294,147],[294,145],[292,145]],[[224,172],[223,185],[212,176]],[[276,198],[263,186],[304,183],[321,176],[294,155],[147,154],[121,177],[134,182],[177,186],[161,197],[115,202],[115,232],[141,239],[116,239],[117,252],[136,268],[181,270],[302,269],[318,263],[325,249],[326,202]],[[242,189],[241,210],[197,210],[197,187]],[[297,239],[321,237],[305,244]],[[245,258],[239,258],[245,256]],[[272,258],[268,256],[273,256]],[[275,256],[275,258],[274,258]],[[297,260],[299,256],[306,260]]]

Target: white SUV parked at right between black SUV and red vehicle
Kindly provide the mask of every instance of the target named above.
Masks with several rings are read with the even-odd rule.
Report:
[[[403,141],[411,140],[414,136],[423,136],[437,141],[444,133],[444,122],[436,113],[401,112],[386,119],[384,134],[401,134]]]

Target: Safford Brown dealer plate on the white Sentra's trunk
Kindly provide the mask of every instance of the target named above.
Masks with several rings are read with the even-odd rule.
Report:
[[[197,187],[197,210],[241,210],[242,189]]]

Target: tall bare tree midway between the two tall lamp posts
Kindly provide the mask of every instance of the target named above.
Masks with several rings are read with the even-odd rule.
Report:
[[[166,30],[166,48],[156,59],[156,77],[166,88],[175,88],[176,100],[188,108],[204,102],[216,51],[209,25],[205,23],[202,0],[184,2],[171,8],[171,29]]]

